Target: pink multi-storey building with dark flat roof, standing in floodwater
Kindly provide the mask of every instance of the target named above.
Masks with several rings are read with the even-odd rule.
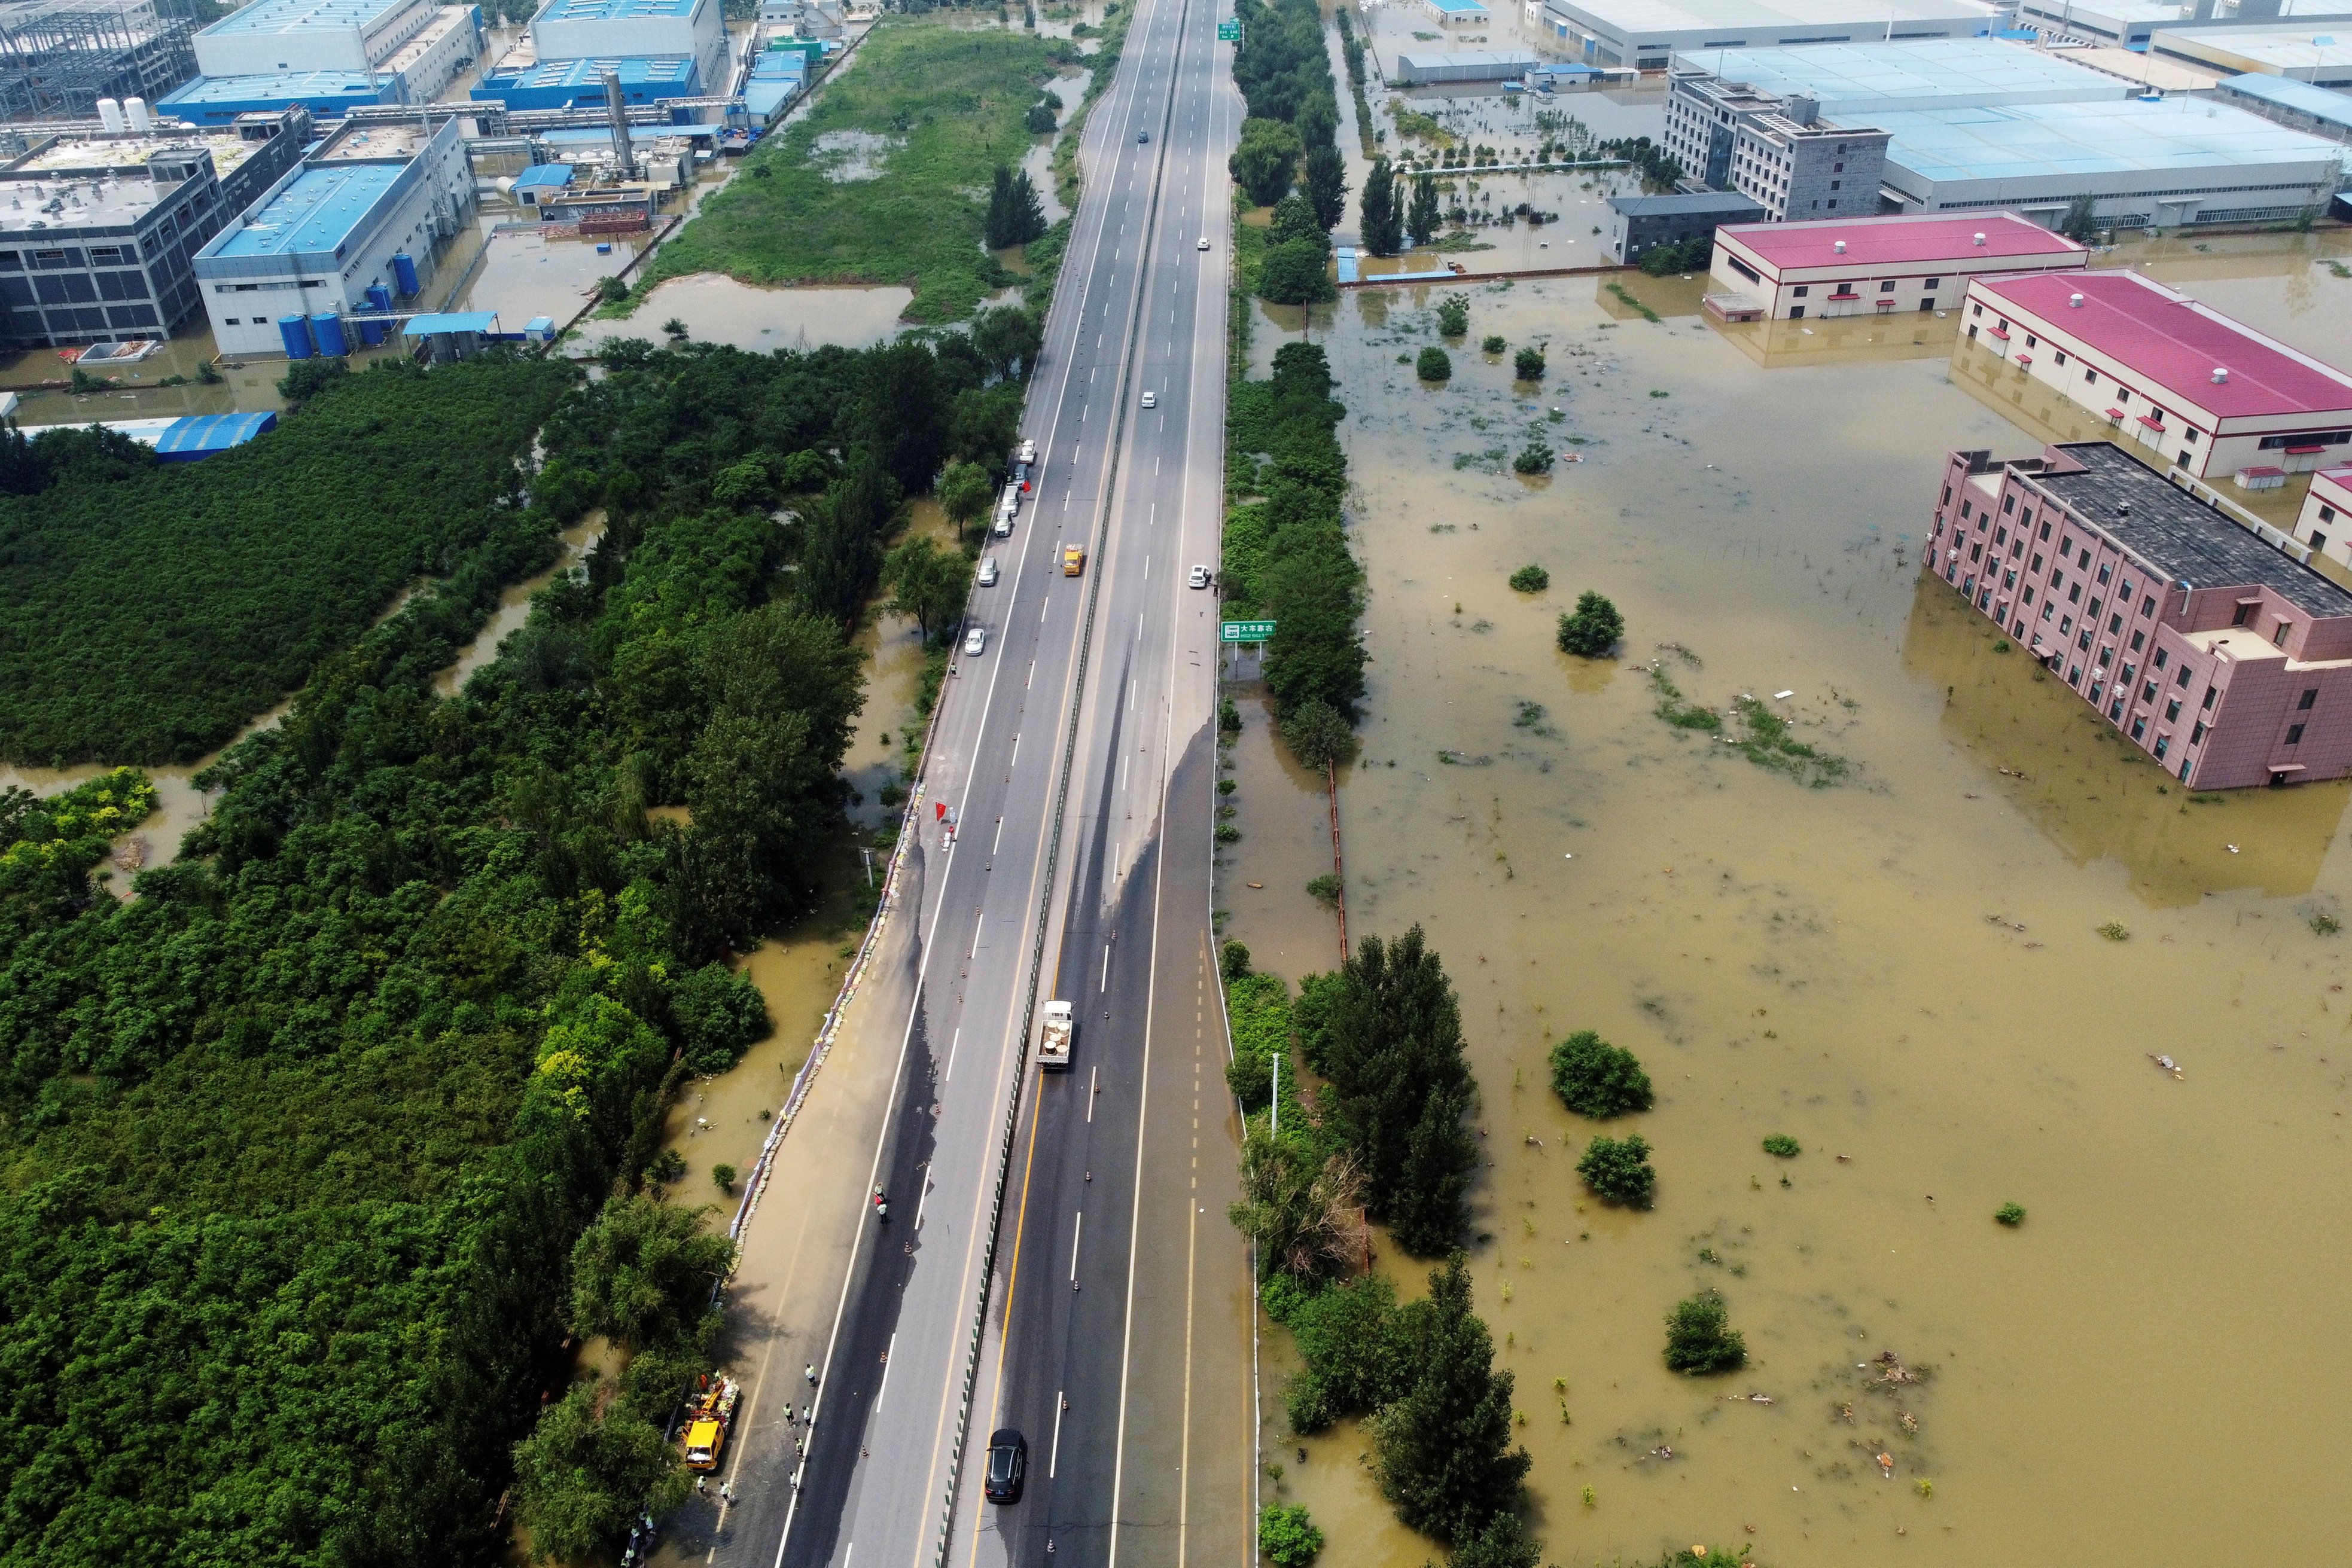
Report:
[[[2119,447],[1955,451],[1922,569],[2192,788],[2352,773],[2352,592]]]

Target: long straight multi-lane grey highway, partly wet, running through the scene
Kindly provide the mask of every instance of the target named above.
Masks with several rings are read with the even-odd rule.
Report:
[[[1218,12],[1138,0],[1089,118],[1023,425],[1035,491],[988,545],[988,644],[950,670],[896,896],[913,940],[875,980],[903,1006],[866,1009],[866,1037],[837,1046],[894,1060],[833,1321],[807,1338],[818,1382],[797,1356],[762,1363],[701,1561],[1251,1561],[1249,1272],[1225,1222],[1237,1126],[1209,931],[1216,595],[1188,588],[1216,564],[1223,503],[1242,106]],[[1061,571],[1073,543],[1082,576]],[[1068,1074],[1025,1070],[1047,997],[1077,1004]],[[811,1180],[809,1201],[842,1187]],[[771,1185],[748,1260],[793,1248],[800,1267],[793,1201]],[[811,1401],[814,1427],[795,1413]],[[981,1497],[997,1425],[1030,1441],[1009,1507]]]

